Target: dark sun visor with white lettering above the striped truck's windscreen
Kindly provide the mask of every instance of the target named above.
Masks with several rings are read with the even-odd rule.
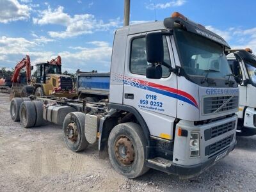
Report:
[[[181,19],[180,17],[168,17],[164,19],[164,26],[168,29],[181,27],[191,33],[204,36],[209,40],[212,40],[218,44],[221,44],[225,47],[225,49],[230,49],[230,46],[228,45],[228,43],[221,36],[217,35],[216,33],[213,33],[212,31],[209,31],[208,29],[204,28],[204,26],[200,24],[196,24],[191,20],[184,20],[184,19]]]

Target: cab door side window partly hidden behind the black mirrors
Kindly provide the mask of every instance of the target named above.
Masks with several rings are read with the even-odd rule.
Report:
[[[170,54],[168,50],[166,36],[163,36],[163,44],[164,44],[164,62],[171,65]],[[131,60],[130,60],[130,71],[132,74],[146,75],[146,68],[150,63],[147,62],[147,54],[146,54],[146,38],[136,38],[132,40],[131,45]],[[167,67],[163,68],[162,77],[170,76],[170,70]]]

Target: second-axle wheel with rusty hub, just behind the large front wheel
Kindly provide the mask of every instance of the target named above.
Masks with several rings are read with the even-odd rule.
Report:
[[[84,113],[72,112],[66,115],[63,122],[63,139],[67,147],[74,152],[84,150],[89,144],[84,135],[84,121]]]

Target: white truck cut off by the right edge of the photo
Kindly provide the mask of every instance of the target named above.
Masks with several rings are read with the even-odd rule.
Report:
[[[249,48],[230,49],[227,53],[240,92],[237,135],[252,136],[256,134],[256,56]]]

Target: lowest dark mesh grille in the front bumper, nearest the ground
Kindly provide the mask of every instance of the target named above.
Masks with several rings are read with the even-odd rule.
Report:
[[[208,145],[205,147],[205,156],[212,156],[216,152],[218,152],[221,149],[224,149],[230,145],[234,138],[234,134],[228,136],[227,138],[224,138],[223,140],[217,141],[216,143],[213,143],[211,145]]]

